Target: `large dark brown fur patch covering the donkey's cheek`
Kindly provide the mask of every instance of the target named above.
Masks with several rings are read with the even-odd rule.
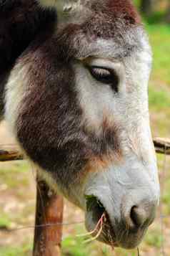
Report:
[[[101,136],[79,125],[82,111],[74,90],[74,70],[66,59],[58,59],[61,49],[53,43],[48,41],[35,52],[28,49],[30,53],[20,60],[29,60],[31,69],[17,120],[18,138],[33,161],[67,184],[91,158],[119,151],[119,142],[116,130],[106,123]]]

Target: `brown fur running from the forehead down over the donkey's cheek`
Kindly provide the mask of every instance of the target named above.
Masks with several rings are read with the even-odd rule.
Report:
[[[27,93],[17,120],[19,142],[34,162],[66,186],[84,170],[95,171],[95,166],[108,166],[109,159],[116,163],[121,158],[116,125],[104,120],[100,136],[86,131],[85,123],[80,125],[82,110],[74,87],[72,62],[82,37],[92,42],[96,37],[107,39],[121,33],[119,16],[124,11],[124,28],[136,24],[134,9],[129,11],[131,5],[126,2],[129,3],[125,1],[124,8],[120,5],[119,9],[111,1],[103,9],[94,4],[91,19],[69,24],[49,39],[44,32],[19,60],[30,65]],[[127,16],[131,19],[126,19]]]

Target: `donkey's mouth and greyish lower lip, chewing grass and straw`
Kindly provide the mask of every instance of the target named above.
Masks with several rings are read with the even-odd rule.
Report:
[[[98,240],[112,248],[134,249],[144,237],[145,226],[131,230],[122,222],[114,226],[104,204],[96,196],[86,196],[86,229],[92,237],[89,242]]]

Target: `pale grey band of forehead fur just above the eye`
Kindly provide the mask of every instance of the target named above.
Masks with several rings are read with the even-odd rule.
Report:
[[[80,39],[81,38],[81,39]],[[151,55],[151,49],[144,30],[140,27],[129,29],[126,33],[110,37],[97,37],[89,39],[82,34],[74,38],[74,47],[77,49],[77,58],[104,57],[114,60],[124,60],[138,52],[146,52]],[[149,60],[149,59],[147,59]]]

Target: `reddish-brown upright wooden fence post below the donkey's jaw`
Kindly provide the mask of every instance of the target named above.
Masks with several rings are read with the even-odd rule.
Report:
[[[34,256],[61,255],[63,208],[63,197],[37,179]]]

